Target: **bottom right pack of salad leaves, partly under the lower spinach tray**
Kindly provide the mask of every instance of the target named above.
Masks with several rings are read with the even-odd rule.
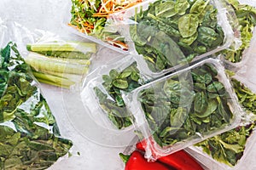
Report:
[[[253,165],[246,161],[253,157],[255,142],[255,122],[248,122],[186,150],[197,161],[208,160],[207,164],[215,164],[218,169],[243,169],[247,165],[250,166],[248,169],[253,169]]]

